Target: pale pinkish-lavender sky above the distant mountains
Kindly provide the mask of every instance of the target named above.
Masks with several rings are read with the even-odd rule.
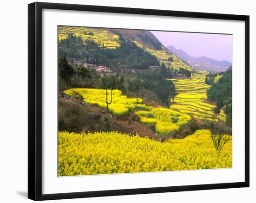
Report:
[[[151,31],[164,46],[173,45],[195,57],[209,57],[232,63],[232,35]]]

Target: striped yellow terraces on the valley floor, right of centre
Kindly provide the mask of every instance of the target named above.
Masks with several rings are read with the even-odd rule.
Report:
[[[202,72],[192,75],[191,79],[171,79],[178,94],[170,108],[192,115],[195,119],[213,118],[215,106],[205,102],[206,91],[210,87],[204,83],[205,76],[206,72]],[[222,110],[220,118],[224,118]]]

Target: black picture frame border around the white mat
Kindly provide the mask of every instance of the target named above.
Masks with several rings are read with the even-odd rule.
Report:
[[[245,22],[245,174],[244,182],[182,185],[170,187],[134,188],[42,194],[42,9],[91,11],[107,13],[175,16],[203,19],[239,20]],[[81,197],[134,195],[189,190],[212,190],[249,187],[249,16],[217,13],[197,13],[141,8],[87,6],[34,2],[28,5],[28,198],[53,200]]]

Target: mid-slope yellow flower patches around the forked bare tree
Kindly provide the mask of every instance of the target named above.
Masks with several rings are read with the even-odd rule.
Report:
[[[101,108],[106,108],[106,90],[105,89],[67,89],[66,95],[81,95],[83,101],[88,104],[95,104]],[[110,91],[108,92],[108,101]],[[141,123],[154,125],[155,131],[159,135],[166,136],[175,133],[180,127],[191,120],[188,114],[182,114],[169,108],[155,108],[143,104],[142,99],[128,98],[122,95],[118,89],[113,90],[112,103],[108,106],[109,112],[116,116],[127,115],[129,112],[135,112],[141,120]]]

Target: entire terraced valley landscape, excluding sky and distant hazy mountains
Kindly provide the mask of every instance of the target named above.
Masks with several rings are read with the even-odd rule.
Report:
[[[58,54],[59,176],[232,167],[232,67],[131,29],[58,26]]]

